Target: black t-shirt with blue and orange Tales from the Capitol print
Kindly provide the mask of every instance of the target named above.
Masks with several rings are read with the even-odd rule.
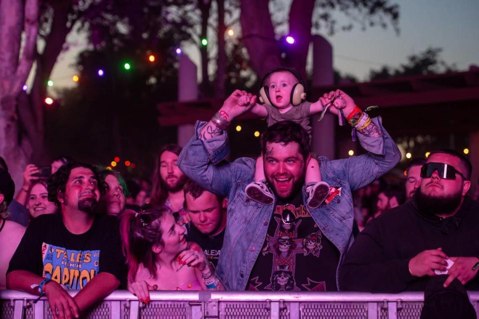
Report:
[[[126,265],[117,227],[114,216],[96,215],[88,231],[75,235],[60,214],[40,215],[26,229],[8,272],[28,271],[73,290],[106,272],[125,287]]]

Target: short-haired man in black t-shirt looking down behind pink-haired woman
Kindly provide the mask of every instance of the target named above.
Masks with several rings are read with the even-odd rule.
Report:
[[[205,191],[191,180],[186,182],[183,190],[185,209],[191,220],[187,224],[187,240],[200,245],[216,267],[225,236],[227,200]]]

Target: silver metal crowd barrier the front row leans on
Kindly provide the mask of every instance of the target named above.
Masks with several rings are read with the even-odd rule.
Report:
[[[74,296],[76,291],[71,291]],[[115,291],[85,319],[419,319],[423,293],[150,292],[145,306],[128,291]],[[0,291],[1,319],[52,319],[46,298]],[[478,314],[479,292],[469,298]]]

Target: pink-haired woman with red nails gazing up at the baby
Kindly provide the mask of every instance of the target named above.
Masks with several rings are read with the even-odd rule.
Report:
[[[128,290],[140,302],[148,304],[150,290],[224,290],[200,246],[187,242],[166,206],[126,210],[120,229]]]

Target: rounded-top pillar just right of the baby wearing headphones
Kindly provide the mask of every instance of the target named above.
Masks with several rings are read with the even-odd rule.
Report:
[[[312,86],[331,85],[333,82],[333,48],[324,37],[314,35]],[[318,118],[319,115],[315,115],[311,119],[313,128],[311,149],[318,156],[335,159],[335,127],[338,125],[338,119],[329,112],[320,122]]]

